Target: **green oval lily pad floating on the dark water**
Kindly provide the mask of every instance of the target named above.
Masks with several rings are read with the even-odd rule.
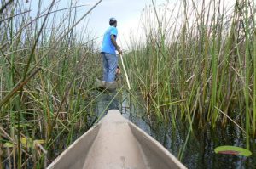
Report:
[[[243,156],[251,156],[252,152],[248,149],[243,149],[241,147],[224,145],[219,146],[214,149],[215,153],[224,154],[224,155],[243,155]]]

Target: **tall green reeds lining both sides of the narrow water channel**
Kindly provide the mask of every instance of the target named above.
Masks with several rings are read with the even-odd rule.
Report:
[[[0,168],[47,166],[108,110],[109,104],[95,112],[106,91],[93,92],[101,56],[84,20],[96,5],[78,16],[77,3],[58,4],[39,0],[34,14],[30,1],[1,1]],[[131,38],[124,54],[131,90],[124,77],[114,97],[128,94],[148,124],[175,131],[183,121],[182,161],[191,133],[208,126],[237,127],[246,149],[255,144],[256,4],[226,4],[152,1],[142,13],[142,37]],[[84,30],[77,30],[81,23]]]

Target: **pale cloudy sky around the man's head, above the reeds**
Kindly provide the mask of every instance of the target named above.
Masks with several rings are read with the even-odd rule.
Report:
[[[197,16],[195,14],[195,10],[193,8],[197,8],[198,13],[201,14],[202,10],[202,1],[203,0],[194,0],[189,1],[188,6],[188,14],[189,14],[189,23],[193,25]],[[205,1],[205,8],[209,6],[210,0]],[[183,6],[180,4],[183,1],[180,0],[154,0],[154,4],[157,8],[157,12],[159,15],[165,13],[167,16],[165,19],[161,20],[163,27],[172,27],[175,22],[183,23]],[[192,3],[194,2],[194,4]],[[45,0],[43,2],[43,8],[47,8],[51,0]],[[57,1],[58,9],[68,8],[71,5],[77,6],[78,8],[73,9],[73,14],[77,14],[77,18],[83,15],[94,3],[95,0],[72,0],[72,1]],[[226,0],[222,2],[222,6],[224,6],[224,13],[226,16],[229,13],[232,13],[232,9],[236,0]],[[36,11],[38,7],[38,1],[32,1],[32,14],[36,16]],[[193,6],[195,5],[195,6]],[[108,20],[110,17],[115,17],[118,20],[118,30],[119,30],[119,39],[118,42],[120,46],[125,49],[128,49],[132,43],[140,41],[144,37],[144,27],[143,25],[148,24],[148,20],[145,19],[145,15],[150,15],[150,23],[151,25],[147,26],[155,26],[157,29],[157,21],[153,9],[152,0],[104,0],[100,3],[90,14],[89,17],[84,19],[84,22],[81,22],[76,28],[76,32],[78,34],[82,34],[83,36],[88,37],[90,35],[91,38],[96,38],[96,46],[100,47],[102,42],[102,35],[104,31],[108,28]],[[190,9],[189,9],[190,8]],[[57,9],[57,8],[55,8]],[[193,13],[193,12],[194,13]],[[65,10],[58,13],[59,19],[63,18]],[[33,16],[32,16],[33,17]],[[147,16],[148,19],[148,16]],[[228,23],[228,22],[227,22]],[[152,25],[153,24],[153,25]],[[228,27],[229,25],[227,25]],[[170,29],[172,31],[172,29]],[[85,38],[85,37],[84,37]]]

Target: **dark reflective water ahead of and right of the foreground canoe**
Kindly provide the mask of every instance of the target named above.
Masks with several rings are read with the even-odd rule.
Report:
[[[133,98],[133,99],[132,99]],[[102,93],[96,100],[96,113],[106,115],[109,109],[118,109],[125,118],[143,129],[164,145],[176,157],[183,149],[189,132],[187,123],[176,119],[176,125],[161,122],[149,122],[142,105],[132,100],[143,100],[140,94],[136,98],[126,93]],[[102,113],[103,112],[103,113]],[[150,125],[148,125],[150,123]],[[256,168],[256,139],[251,140],[251,157],[241,155],[215,154],[214,149],[221,145],[233,145],[245,148],[245,137],[240,129],[230,124],[227,127],[194,127],[183,153],[182,162],[188,168]]]

